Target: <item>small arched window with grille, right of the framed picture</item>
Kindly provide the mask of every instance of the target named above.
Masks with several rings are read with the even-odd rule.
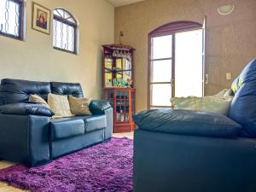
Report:
[[[77,54],[77,21],[64,9],[54,10],[53,46],[55,49]]]

